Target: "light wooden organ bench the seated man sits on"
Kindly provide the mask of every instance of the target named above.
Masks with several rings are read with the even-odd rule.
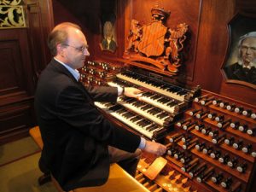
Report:
[[[33,127],[29,131],[30,136],[38,144],[39,148],[43,148],[43,141],[38,126]],[[63,192],[60,185],[56,182],[54,177],[51,177],[52,182],[55,184],[58,191]],[[39,183],[40,184],[40,183]],[[97,187],[87,187],[74,189],[72,192],[113,192],[122,190],[123,192],[149,192],[148,189],[138,183],[134,177],[131,177],[119,165],[113,163],[110,166],[110,172],[107,183]]]

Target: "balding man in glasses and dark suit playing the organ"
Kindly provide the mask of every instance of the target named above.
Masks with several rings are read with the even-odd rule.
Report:
[[[134,173],[140,155],[137,148],[156,155],[166,153],[166,146],[111,124],[94,106],[94,101],[115,102],[120,94],[137,97],[140,91],[130,87],[85,90],[77,69],[84,66],[90,53],[79,26],[55,26],[48,44],[55,57],[41,74],[35,94],[44,142],[41,170],[49,169],[61,188],[68,191],[105,183],[111,162],[128,163],[126,168],[131,166]]]

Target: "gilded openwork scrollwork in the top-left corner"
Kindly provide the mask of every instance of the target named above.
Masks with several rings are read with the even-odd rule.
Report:
[[[21,0],[2,0],[0,2],[0,28],[25,27],[25,15],[23,7],[19,5]]]

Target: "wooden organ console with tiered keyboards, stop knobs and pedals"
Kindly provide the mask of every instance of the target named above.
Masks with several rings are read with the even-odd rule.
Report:
[[[157,166],[155,157],[143,153],[137,181],[151,191],[250,191],[256,167],[255,108],[132,69],[90,61],[81,80],[85,86],[143,90],[139,100],[119,96],[116,103],[95,102],[114,123],[168,148],[162,156],[166,166],[153,179],[145,172]]]

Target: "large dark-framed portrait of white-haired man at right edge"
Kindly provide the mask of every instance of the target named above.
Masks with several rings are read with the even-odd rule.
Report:
[[[230,41],[222,73],[227,83],[256,89],[256,18],[237,14],[228,24]]]

